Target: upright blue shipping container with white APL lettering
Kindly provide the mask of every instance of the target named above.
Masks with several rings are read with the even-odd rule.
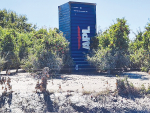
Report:
[[[74,69],[91,69],[85,55],[90,51],[91,38],[96,35],[96,4],[68,2],[58,7],[59,30],[70,42]]]

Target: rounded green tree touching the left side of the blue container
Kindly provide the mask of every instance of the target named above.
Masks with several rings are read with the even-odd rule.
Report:
[[[69,53],[69,42],[58,33],[57,29],[49,29],[40,39],[42,46],[36,45],[37,67],[49,67],[53,74],[59,73],[63,66],[72,65]]]

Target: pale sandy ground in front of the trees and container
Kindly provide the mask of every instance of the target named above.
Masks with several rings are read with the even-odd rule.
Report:
[[[11,73],[14,72],[14,70],[10,71]],[[1,72],[1,74],[4,74],[5,71]],[[145,73],[145,72],[128,72],[124,73],[124,76],[128,75],[129,76],[129,81],[133,83],[136,87],[141,87],[142,84],[147,88],[150,83],[150,75]],[[136,77],[136,75],[138,77]],[[4,110],[9,109],[9,112],[18,112],[21,113],[23,110],[25,111],[25,108],[21,108],[18,106],[19,102],[22,102],[22,106],[25,106],[24,101],[22,100],[23,98],[28,100],[30,102],[29,105],[26,105],[26,109],[30,106],[33,112],[43,112],[47,110],[44,104],[44,100],[41,100],[42,95],[38,97],[35,93],[35,86],[38,81],[36,77],[31,76],[30,73],[17,73],[15,75],[3,75],[4,77],[10,77],[11,78],[11,85],[12,85],[12,91],[13,91],[13,100],[11,103],[11,106],[8,107],[8,105],[4,105],[3,108],[0,108],[1,112],[4,112]],[[121,76],[122,77],[122,76]],[[75,112],[77,108],[74,108],[72,104],[75,104],[76,106],[84,106],[87,107],[88,110],[94,109],[95,107],[97,108],[103,108],[103,104],[99,103],[93,103],[91,100],[92,93],[99,93],[101,91],[104,91],[106,89],[114,91],[116,89],[116,79],[117,77],[106,77],[102,75],[65,75],[62,74],[61,77],[55,78],[55,79],[48,79],[48,85],[47,85],[47,90],[50,92],[53,92],[53,94],[50,96],[51,100],[54,101],[58,104],[58,106],[61,108],[58,108],[58,110],[52,110],[52,111],[57,111],[57,112],[62,112],[64,108],[69,109],[70,112]],[[61,86],[61,88],[60,88]],[[0,95],[2,93],[2,88],[0,85]],[[66,95],[68,95],[68,92],[71,94],[68,98],[66,98]],[[88,96],[83,96],[82,92],[91,92],[90,95]],[[57,99],[56,99],[57,98]],[[109,97],[111,100],[113,100],[113,97]],[[64,107],[64,103],[67,103],[69,99],[70,104],[69,106],[72,105],[72,107]],[[34,100],[34,101],[33,101]],[[109,99],[107,99],[109,101]],[[85,102],[87,101],[87,102]],[[107,102],[108,102],[107,101]],[[129,107],[135,108],[136,110],[143,111],[142,106],[146,106],[145,109],[146,111],[150,110],[150,99],[145,97],[143,100],[127,100],[122,97],[119,97],[117,103],[113,103],[114,107],[110,107],[109,104],[107,103],[108,106],[105,107],[105,109],[112,111],[111,109],[114,108],[114,112],[117,111],[117,106],[122,105],[122,102],[125,102],[126,104],[123,104],[123,106],[126,108],[127,104],[131,104]],[[36,103],[36,104],[35,104]],[[93,104],[91,104],[93,103]],[[141,103],[141,104],[139,104]],[[106,105],[107,105],[106,104]],[[144,104],[144,105],[143,105]],[[20,105],[20,106],[21,106]],[[95,106],[95,107],[94,107]],[[67,108],[68,107],[68,108]],[[136,108],[137,107],[137,108]],[[124,108],[122,108],[124,109]],[[128,108],[129,109],[129,108]],[[82,111],[82,110],[81,110]],[[132,111],[132,110],[131,110]],[[30,111],[27,111],[30,112]],[[84,112],[84,111],[83,111]],[[112,111],[113,112],[113,111]],[[149,111],[150,112],[150,111]]]

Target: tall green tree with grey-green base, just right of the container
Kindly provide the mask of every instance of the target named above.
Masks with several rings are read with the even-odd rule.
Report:
[[[128,53],[129,26],[126,20],[117,19],[117,23],[101,33],[94,40],[99,42],[98,48],[87,60],[98,70],[110,70],[129,66],[130,57]],[[96,43],[97,45],[97,43]],[[93,45],[93,48],[96,47]]]

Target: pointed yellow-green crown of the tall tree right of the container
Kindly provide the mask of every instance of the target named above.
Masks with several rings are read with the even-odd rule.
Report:
[[[123,19],[117,19],[117,23],[110,26],[109,34],[110,34],[110,44],[115,49],[127,50],[129,44],[129,26],[126,23],[127,21]],[[110,46],[111,46],[110,45]]]

